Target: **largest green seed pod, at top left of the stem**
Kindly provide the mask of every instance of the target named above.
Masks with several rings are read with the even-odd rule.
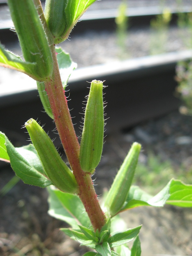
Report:
[[[35,62],[37,80],[51,75],[52,55],[43,25],[32,0],[8,0],[11,17],[19,37],[23,57]]]

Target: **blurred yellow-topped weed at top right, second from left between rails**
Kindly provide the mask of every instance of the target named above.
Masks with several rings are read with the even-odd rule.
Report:
[[[168,26],[171,18],[170,10],[164,8],[162,14],[156,15],[156,18],[151,20],[150,54],[161,54],[166,51]]]

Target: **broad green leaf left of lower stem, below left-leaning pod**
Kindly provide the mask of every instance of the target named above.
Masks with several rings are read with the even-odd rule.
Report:
[[[56,219],[67,222],[72,228],[80,230],[78,225],[89,228],[91,226],[84,205],[78,196],[63,193],[53,186],[47,188],[49,192],[48,213]]]

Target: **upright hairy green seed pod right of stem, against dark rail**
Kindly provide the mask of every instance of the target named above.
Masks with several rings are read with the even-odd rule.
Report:
[[[93,80],[87,100],[84,127],[80,144],[80,165],[92,172],[100,162],[103,149],[103,82]]]

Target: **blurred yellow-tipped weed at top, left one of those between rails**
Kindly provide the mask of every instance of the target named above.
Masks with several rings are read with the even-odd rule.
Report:
[[[128,29],[127,2],[122,1],[118,7],[118,13],[115,19],[117,45],[120,49],[120,58],[126,58],[128,53],[126,50],[126,38]]]

